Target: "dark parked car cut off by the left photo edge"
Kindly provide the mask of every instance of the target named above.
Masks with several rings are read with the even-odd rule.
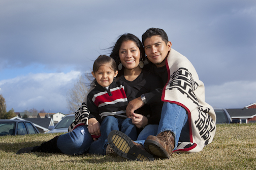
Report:
[[[0,120],[0,136],[39,134],[35,125],[27,120]]]

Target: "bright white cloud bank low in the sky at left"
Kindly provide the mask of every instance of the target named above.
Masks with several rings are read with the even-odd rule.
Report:
[[[69,89],[73,88],[80,74],[79,71],[30,73],[1,80],[1,93],[6,100],[7,110],[14,108],[16,112],[23,112],[31,108],[38,111],[51,109],[51,112],[67,114],[66,94]]]

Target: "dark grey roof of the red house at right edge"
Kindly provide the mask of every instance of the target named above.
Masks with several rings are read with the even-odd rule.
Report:
[[[254,117],[256,109],[226,109],[230,116],[233,117]]]

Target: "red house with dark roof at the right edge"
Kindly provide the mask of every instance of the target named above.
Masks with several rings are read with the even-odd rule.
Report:
[[[256,122],[256,108],[255,109],[226,109],[232,119],[239,119],[241,123]]]

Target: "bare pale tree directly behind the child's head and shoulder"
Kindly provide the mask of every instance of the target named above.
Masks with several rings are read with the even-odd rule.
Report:
[[[74,83],[74,87],[68,91],[67,108],[69,109],[70,113],[77,111],[77,109],[81,106],[83,98],[88,91],[86,84],[88,84],[87,74],[80,75],[77,81]]]

